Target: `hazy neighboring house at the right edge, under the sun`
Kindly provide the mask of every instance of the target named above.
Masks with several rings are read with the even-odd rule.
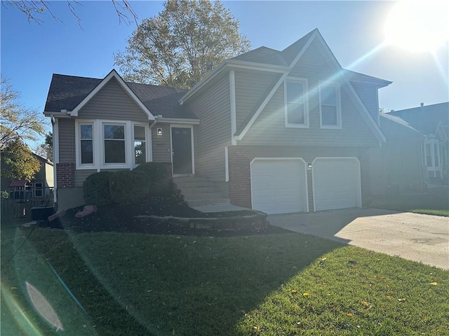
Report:
[[[412,109],[390,111],[420,131],[420,167],[422,179],[426,184],[448,183],[449,169],[449,102],[433,104]]]

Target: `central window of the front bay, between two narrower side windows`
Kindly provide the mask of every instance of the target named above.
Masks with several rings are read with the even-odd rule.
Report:
[[[126,165],[126,124],[102,123],[102,165]]]

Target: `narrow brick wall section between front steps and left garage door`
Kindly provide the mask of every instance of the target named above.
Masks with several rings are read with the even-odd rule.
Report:
[[[251,208],[250,153],[245,146],[228,148],[229,200],[239,207]]]

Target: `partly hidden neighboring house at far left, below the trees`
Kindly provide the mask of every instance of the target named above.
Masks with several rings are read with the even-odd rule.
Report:
[[[34,154],[41,167],[32,181],[1,179],[1,190],[7,190],[10,200],[45,199],[53,193],[53,162]]]

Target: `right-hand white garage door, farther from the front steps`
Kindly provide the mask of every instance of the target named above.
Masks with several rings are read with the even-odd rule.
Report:
[[[356,158],[316,158],[312,166],[315,211],[361,207]]]

